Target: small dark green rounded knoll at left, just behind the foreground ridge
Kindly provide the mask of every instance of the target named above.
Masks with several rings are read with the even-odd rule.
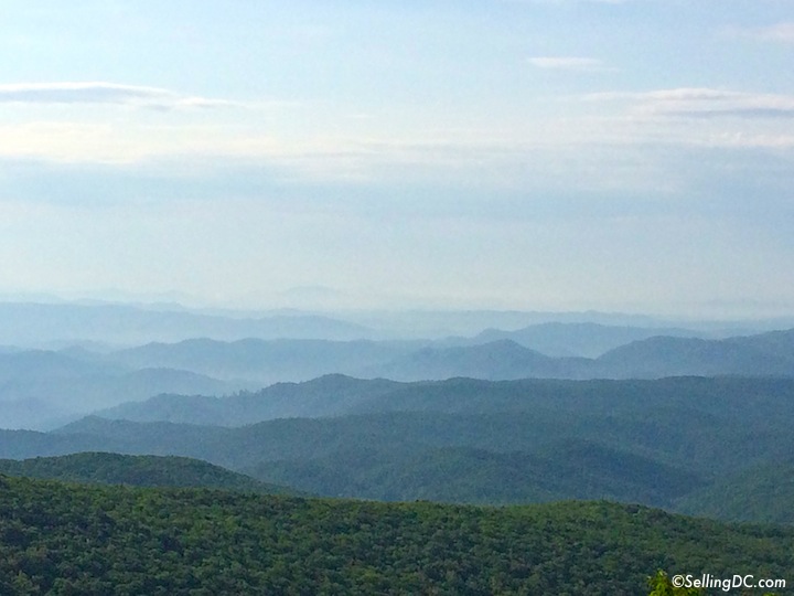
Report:
[[[186,457],[83,453],[17,461],[0,459],[0,473],[100,485],[205,487],[269,493],[294,493],[206,461]]]

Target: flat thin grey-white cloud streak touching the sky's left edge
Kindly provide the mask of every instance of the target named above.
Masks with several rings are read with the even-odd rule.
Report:
[[[174,109],[218,107],[232,102],[182,95],[159,87],[103,82],[17,83],[0,85],[0,103],[14,104],[115,104]]]

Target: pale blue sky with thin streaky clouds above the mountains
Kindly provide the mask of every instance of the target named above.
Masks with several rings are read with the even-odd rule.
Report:
[[[792,0],[4,0],[0,295],[794,313]]]

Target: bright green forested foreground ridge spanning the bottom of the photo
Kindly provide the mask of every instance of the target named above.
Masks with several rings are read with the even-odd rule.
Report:
[[[0,477],[9,595],[622,596],[647,594],[658,568],[791,579],[793,542],[792,530],[605,502],[490,509]]]

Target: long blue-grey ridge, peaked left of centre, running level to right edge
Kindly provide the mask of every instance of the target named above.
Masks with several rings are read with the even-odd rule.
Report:
[[[752,404],[748,397],[752,396]],[[159,395],[98,412],[100,417],[133,422],[172,422],[243,426],[290,417],[325,417],[383,412],[539,413],[564,411],[571,423],[591,414],[632,412],[659,416],[669,409],[727,417],[731,422],[776,424],[794,415],[794,379],[670,377],[661,380],[568,381],[449,379],[394,382],[326,375],[303,383],[278,383],[228,397]],[[682,421],[688,427],[691,421]],[[79,424],[67,427],[81,432]]]

